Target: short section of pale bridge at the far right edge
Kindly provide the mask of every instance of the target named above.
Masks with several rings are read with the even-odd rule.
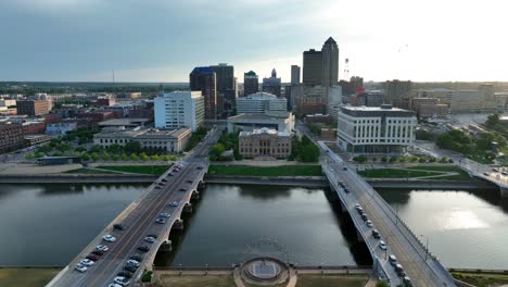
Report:
[[[508,198],[508,174],[503,175],[501,171],[494,172],[487,164],[482,164],[469,159],[460,159],[458,166],[470,176],[482,178],[499,187],[499,194],[504,198]]]

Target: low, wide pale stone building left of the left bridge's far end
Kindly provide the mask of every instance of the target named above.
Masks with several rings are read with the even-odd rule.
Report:
[[[104,148],[112,145],[124,147],[132,140],[138,141],[144,149],[161,149],[170,153],[179,153],[186,148],[191,134],[188,127],[173,130],[155,128],[105,130],[93,135],[93,144]]]

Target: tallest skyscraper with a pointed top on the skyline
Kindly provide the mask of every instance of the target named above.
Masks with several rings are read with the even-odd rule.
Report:
[[[322,86],[331,87],[339,80],[339,46],[332,37],[322,45]]]

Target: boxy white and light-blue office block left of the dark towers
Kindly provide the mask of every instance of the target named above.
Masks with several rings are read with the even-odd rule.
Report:
[[[201,91],[172,91],[154,99],[155,127],[190,127],[194,132],[204,122],[204,99]]]

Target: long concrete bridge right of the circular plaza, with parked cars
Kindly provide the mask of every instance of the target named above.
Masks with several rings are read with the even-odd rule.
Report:
[[[367,245],[374,273],[390,282],[391,286],[403,286],[403,278],[397,276],[388,260],[389,254],[394,254],[414,286],[456,286],[448,271],[430,254],[420,239],[378,192],[326,145],[320,142],[319,146],[322,150],[323,173],[341,201],[342,211],[351,215],[358,239]],[[346,192],[339,182],[350,191]],[[368,227],[363,221],[355,209],[356,203],[365,210],[373,227]],[[372,228],[379,230],[381,239],[373,238]],[[380,240],[386,242],[388,250],[380,248]]]

